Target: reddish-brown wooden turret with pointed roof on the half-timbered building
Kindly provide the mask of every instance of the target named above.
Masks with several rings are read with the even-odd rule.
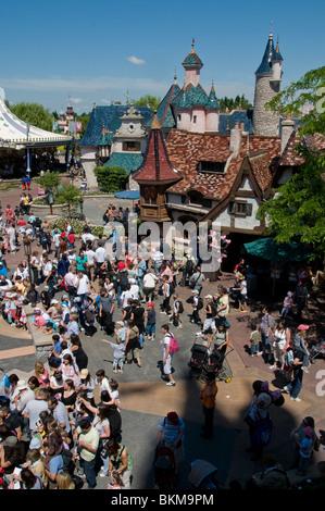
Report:
[[[161,228],[163,222],[171,221],[164,195],[171,185],[182,178],[182,174],[170,162],[161,126],[155,114],[143,162],[133,174],[133,179],[139,184],[140,188],[140,219],[142,221],[157,222]]]

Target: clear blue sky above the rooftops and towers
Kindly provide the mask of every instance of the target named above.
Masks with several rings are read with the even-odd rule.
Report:
[[[252,101],[270,34],[279,39],[283,87],[324,65],[322,0],[29,0],[1,5],[0,87],[11,103],[77,113],[151,94],[163,97],[195,48],[201,84]]]

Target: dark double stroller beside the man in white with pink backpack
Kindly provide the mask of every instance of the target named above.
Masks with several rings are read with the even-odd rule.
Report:
[[[215,349],[209,353],[207,339],[208,337],[201,336],[200,342],[197,338],[191,347],[191,358],[188,363],[190,377],[205,383],[208,375],[214,373],[216,379],[229,383],[233,374],[226,361],[227,353],[221,354],[221,352]]]

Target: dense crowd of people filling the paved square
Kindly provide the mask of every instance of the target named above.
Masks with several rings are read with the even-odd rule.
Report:
[[[9,324],[26,328],[24,306],[32,306],[32,327],[51,336],[52,347],[47,363],[38,362],[28,382],[20,381],[14,374],[0,375],[2,487],[72,489],[86,483],[95,488],[99,475],[108,477],[110,488],[128,488],[133,458],[122,441],[118,384],[102,369],[90,375],[82,334],[87,338],[99,331],[105,334],[102,341],[112,349],[112,371],[123,374],[127,364],[142,366],[145,340],[155,339],[157,314],[162,314],[162,376],[166,386],[175,387],[172,331],[184,328],[185,321],[196,324],[197,336],[205,338],[208,350],[218,352],[222,361],[229,345],[230,309],[249,310],[247,265],[241,260],[235,267],[232,288],[215,285],[213,295],[201,296],[207,278],[200,260],[193,258],[190,250],[182,261],[176,261],[172,252],[171,258],[165,259],[162,246],[152,249],[141,239],[135,249],[125,237],[125,259],[110,259],[105,240],[97,239],[89,225],[85,225],[77,240],[68,222],[60,230],[34,215],[24,221],[26,214],[29,212],[15,214],[10,205],[5,210],[2,232],[8,235],[8,229],[13,228],[15,245],[2,247],[2,316]],[[112,220],[112,214],[118,219],[125,212],[110,207],[105,212],[108,221]],[[33,251],[29,263],[22,259],[10,275],[5,254],[15,252],[26,235],[41,249]],[[118,237],[115,248],[117,244]],[[296,291],[285,297],[276,321],[268,308],[263,308],[260,324],[253,325],[250,338],[250,354],[263,357],[272,370],[283,372],[287,378],[283,392],[290,392],[295,401],[300,400],[302,375],[309,371],[305,338],[309,326],[300,323],[308,299],[308,292],[301,287],[308,289],[307,281],[302,273],[298,275]],[[180,287],[188,289],[186,301],[191,309],[188,317],[179,298]],[[297,325],[292,334],[287,320],[293,302]],[[96,386],[99,389],[97,402]],[[262,390],[254,388],[254,392],[248,423],[254,457],[261,459],[263,449],[253,445],[253,432],[262,419],[268,417],[271,404],[279,406],[279,396],[272,395],[265,383]],[[262,396],[264,401],[263,392],[267,396]],[[201,395],[202,436],[205,438],[213,436],[216,394],[214,377],[207,382]],[[158,428],[157,446],[161,445],[165,432],[164,446],[167,441],[176,457],[176,479],[185,427],[177,413],[171,412]],[[309,438],[310,433],[305,433]],[[314,446],[316,437],[312,438]],[[313,448],[310,443],[309,452]],[[300,474],[305,473],[307,458],[302,453],[298,457]],[[161,484],[163,486],[155,481],[155,487]]]

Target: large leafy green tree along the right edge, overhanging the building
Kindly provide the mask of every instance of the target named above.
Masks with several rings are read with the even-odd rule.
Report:
[[[323,95],[323,96],[322,96]],[[300,135],[325,133],[325,67],[307,73],[268,104],[278,113],[301,113],[308,103],[312,110],[301,119]],[[297,145],[304,160],[299,171],[274,197],[261,204],[258,216],[267,220],[268,234],[278,242],[300,240],[310,246],[312,258],[325,253],[325,150],[313,145]]]

